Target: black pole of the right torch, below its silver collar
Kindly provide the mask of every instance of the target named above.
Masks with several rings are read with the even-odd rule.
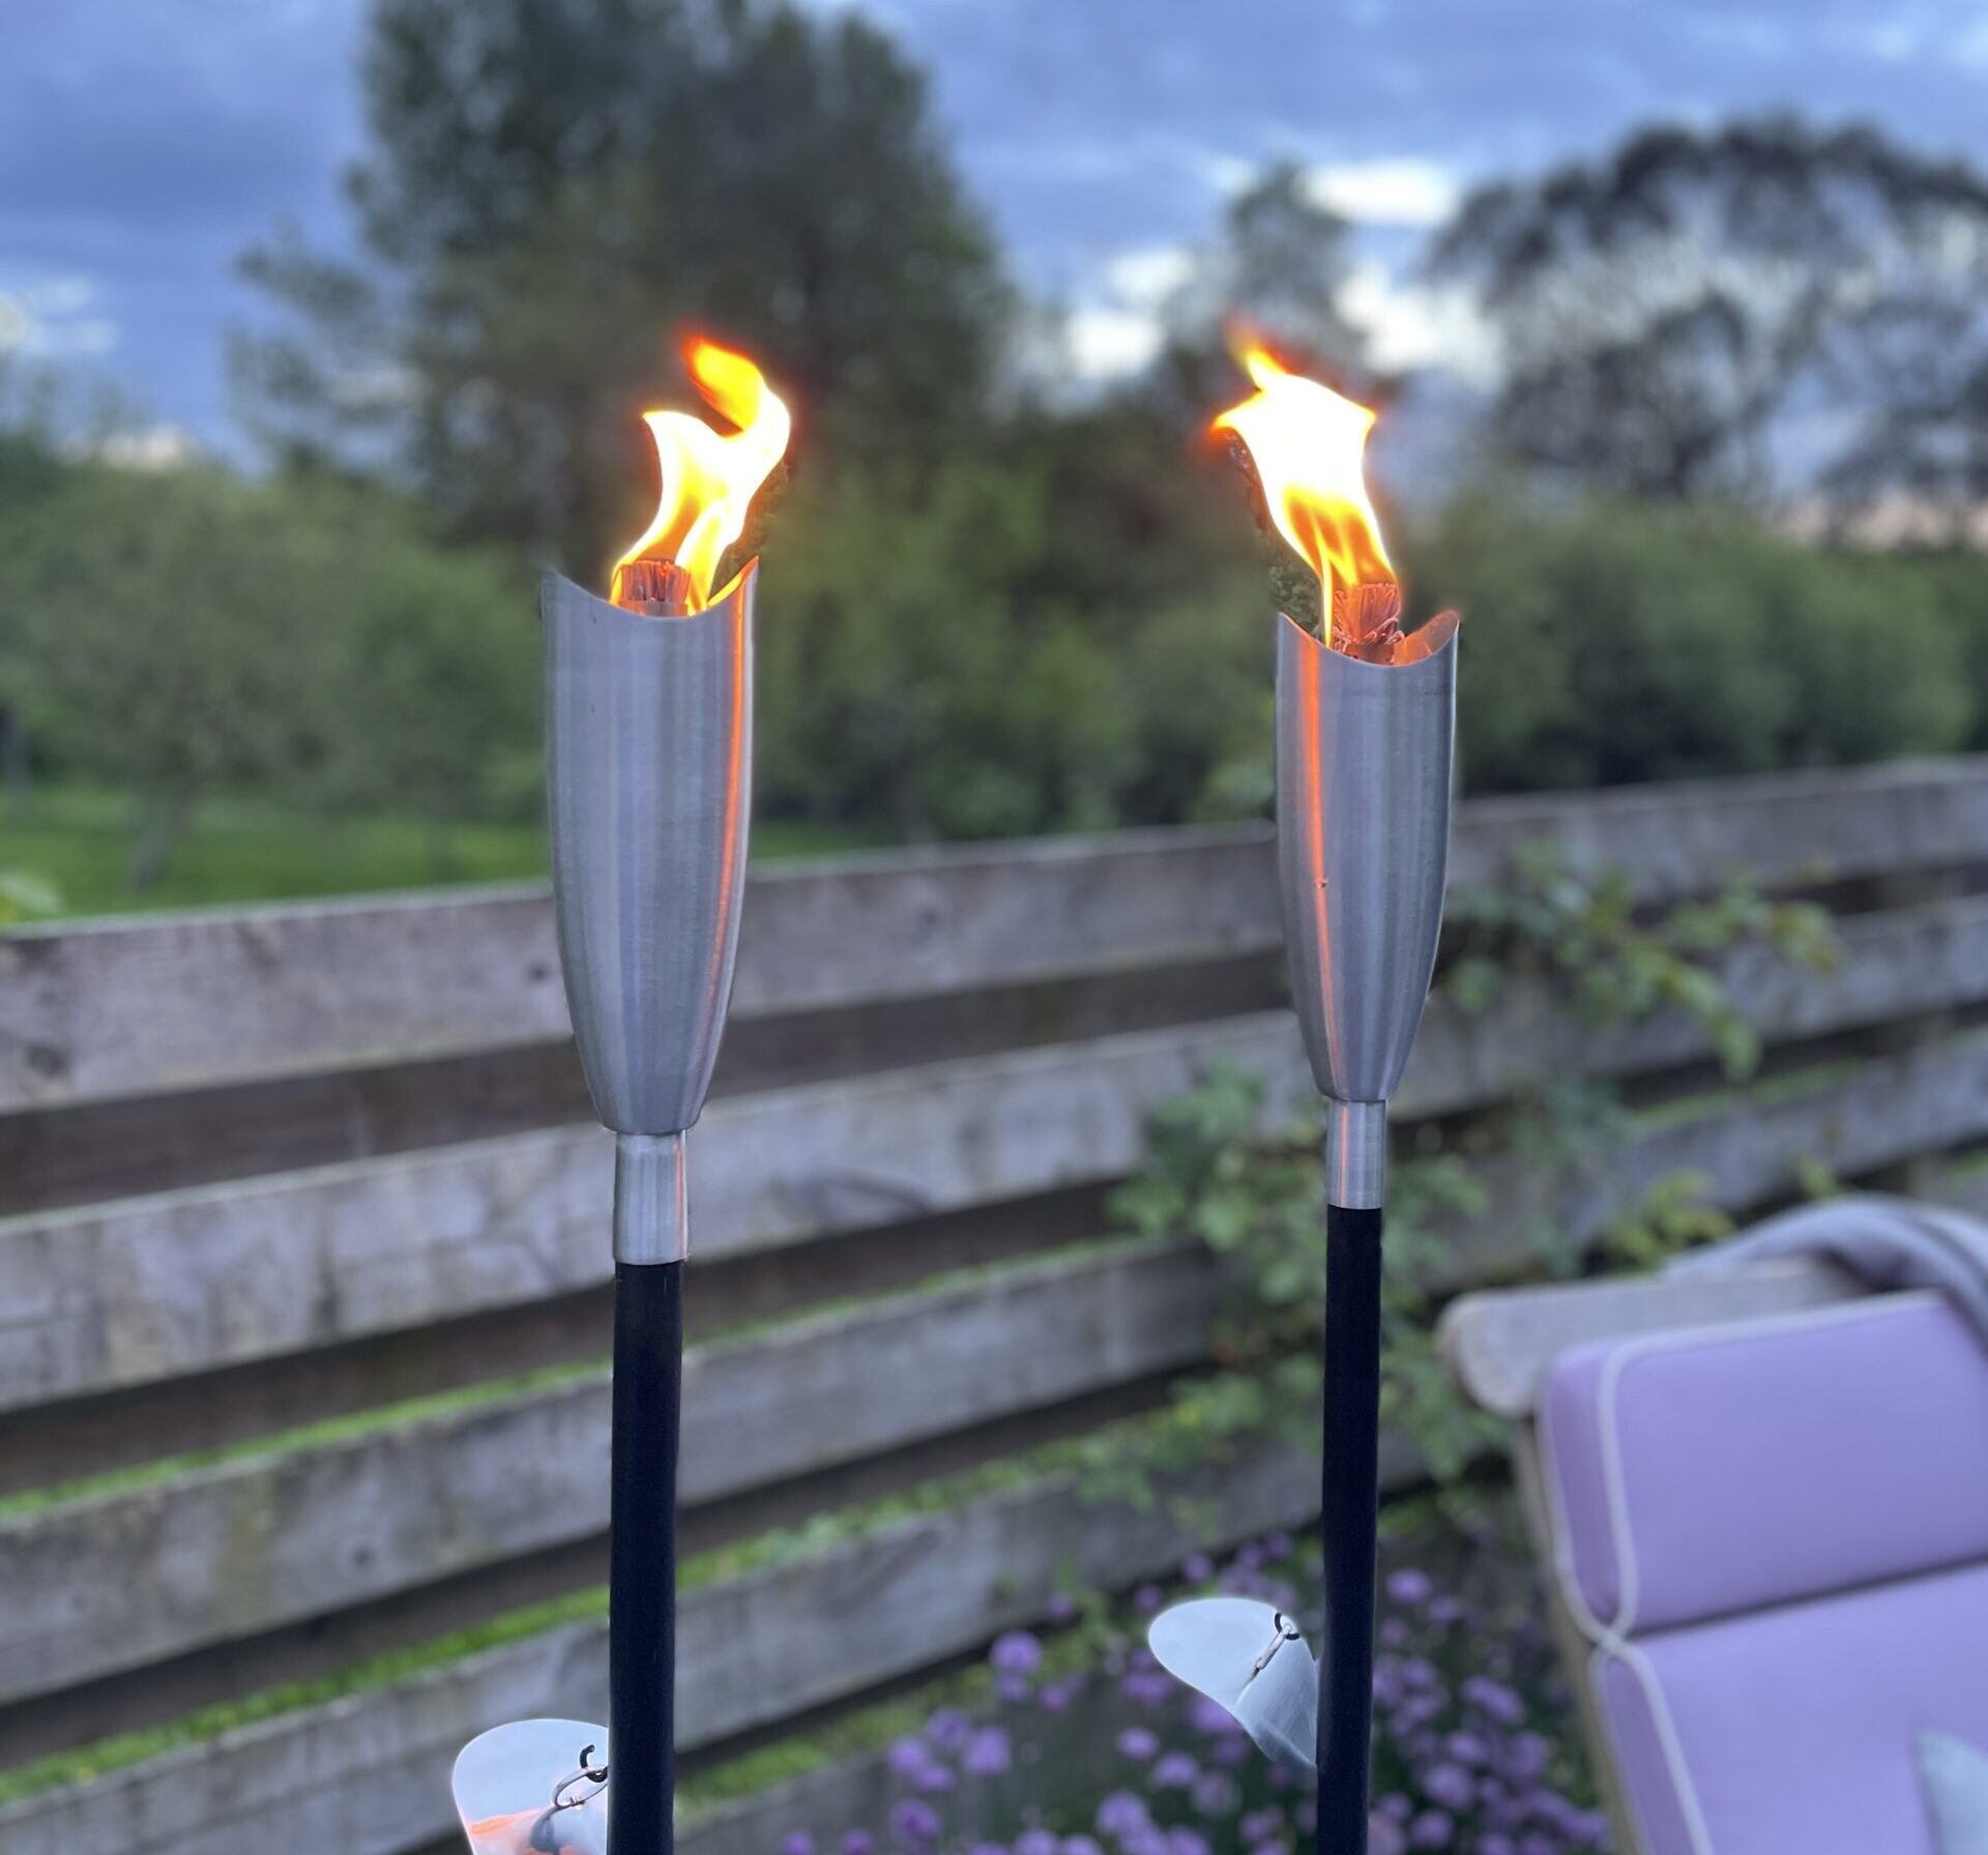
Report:
[[[1326,1622],[1318,1654],[1318,1855],[1366,1855],[1380,1515],[1382,1213],[1326,1205]]]

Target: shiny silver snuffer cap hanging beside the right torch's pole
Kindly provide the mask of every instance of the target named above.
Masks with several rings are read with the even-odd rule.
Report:
[[[1318,1662],[1298,1626],[1246,1597],[1201,1597],[1161,1610],[1147,1642],[1175,1680],[1217,1706],[1274,1760],[1318,1758]]]

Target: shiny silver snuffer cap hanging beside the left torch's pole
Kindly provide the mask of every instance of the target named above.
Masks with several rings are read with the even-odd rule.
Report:
[[[608,1730],[584,1720],[513,1720],[471,1740],[451,1787],[471,1855],[606,1855]]]

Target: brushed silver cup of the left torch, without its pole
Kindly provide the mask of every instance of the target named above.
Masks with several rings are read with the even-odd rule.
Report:
[[[573,1034],[616,1133],[704,1109],[738,952],[751,815],[757,563],[656,618],[547,575],[545,783]]]

